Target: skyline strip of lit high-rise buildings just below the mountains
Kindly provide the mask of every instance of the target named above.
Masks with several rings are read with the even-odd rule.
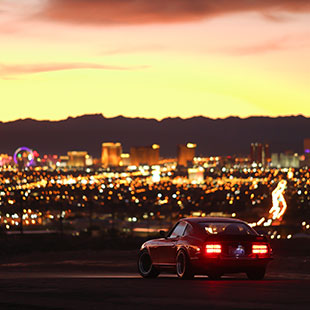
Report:
[[[251,143],[249,155],[240,156],[196,156],[195,143],[179,144],[176,158],[160,156],[160,145],[131,147],[130,153],[123,153],[119,142],[104,142],[101,146],[101,158],[94,158],[86,150],[68,151],[66,156],[56,154],[39,155],[37,150],[28,147],[18,148],[13,155],[0,154],[0,168],[43,168],[43,169],[83,169],[110,168],[133,170],[139,166],[174,165],[175,167],[263,167],[263,168],[301,168],[310,165],[310,138],[304,139],[303,154],[287,151],[272,153],[269,144]]]

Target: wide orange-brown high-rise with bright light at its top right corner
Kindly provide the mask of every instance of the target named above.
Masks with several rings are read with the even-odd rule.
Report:
[[[159,150],[160,146],[158,144],[132,147],[130,148],[130,163],[134,166],[158,165]]]

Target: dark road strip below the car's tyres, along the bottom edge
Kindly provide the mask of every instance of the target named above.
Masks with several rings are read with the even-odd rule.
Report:
[[[211,281],[94,272],[1,272],[0,309],[309,309],[310,279],[269,274]]]

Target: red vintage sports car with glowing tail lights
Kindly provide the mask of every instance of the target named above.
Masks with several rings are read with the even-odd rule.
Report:
[[[245,272],[249,279],[261,280],[271,259],[267,238],[241,220],[185,218],[164,238],[141,246],[138,270],[144,278],[170,270],[182,279],[195,274],[219,279],[225,273]]]

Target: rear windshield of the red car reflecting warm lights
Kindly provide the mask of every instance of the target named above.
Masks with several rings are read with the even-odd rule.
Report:
[[[244,223],[201,222],[199,225],[209,235],[257,235],[255,230]]]

